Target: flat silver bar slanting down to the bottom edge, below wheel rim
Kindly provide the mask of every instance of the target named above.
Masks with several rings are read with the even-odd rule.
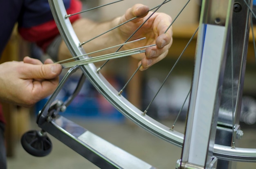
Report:
[[[156,169],[63,116],[39,127],[101,169]]]

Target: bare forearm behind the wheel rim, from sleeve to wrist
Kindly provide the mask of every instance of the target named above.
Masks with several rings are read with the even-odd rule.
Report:
[[[109,22],[93,22],[88,19],[79,19],[72,24],[74,31],[76,32],[77,37],[79,38],[80,43],[90,41],[92,38],[105,33],[106,31],[112,29],[113,27],[117,26],[119,22],[119,18],[115,18]],[[86,53],[94,52],[96,50],[100,50],[103,48],[107,48],[110,46],[114,46],[117,44],[122,43],[121,38],[119,37],[119,33],[117,29],[114,29],[106,34],[103,34],[97,37],[90,42],[87,42],[83,45],[83,48]],[[115,52],[117,48],[113,48],[108,50],[108,53]],[[106,52],[101,52],[94,54],[92,56],[102,55]],[[68,59],[71,57],[71,54],[65,45],[65,42],[61,42],[59,53],[58,53],[58,60]]]

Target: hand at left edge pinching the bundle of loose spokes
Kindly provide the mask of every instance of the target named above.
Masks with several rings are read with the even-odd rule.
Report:
[[[58,86],[61,65],[47,59],[25,57],[0,64],[0,101],[30,107],[52,94]]]

